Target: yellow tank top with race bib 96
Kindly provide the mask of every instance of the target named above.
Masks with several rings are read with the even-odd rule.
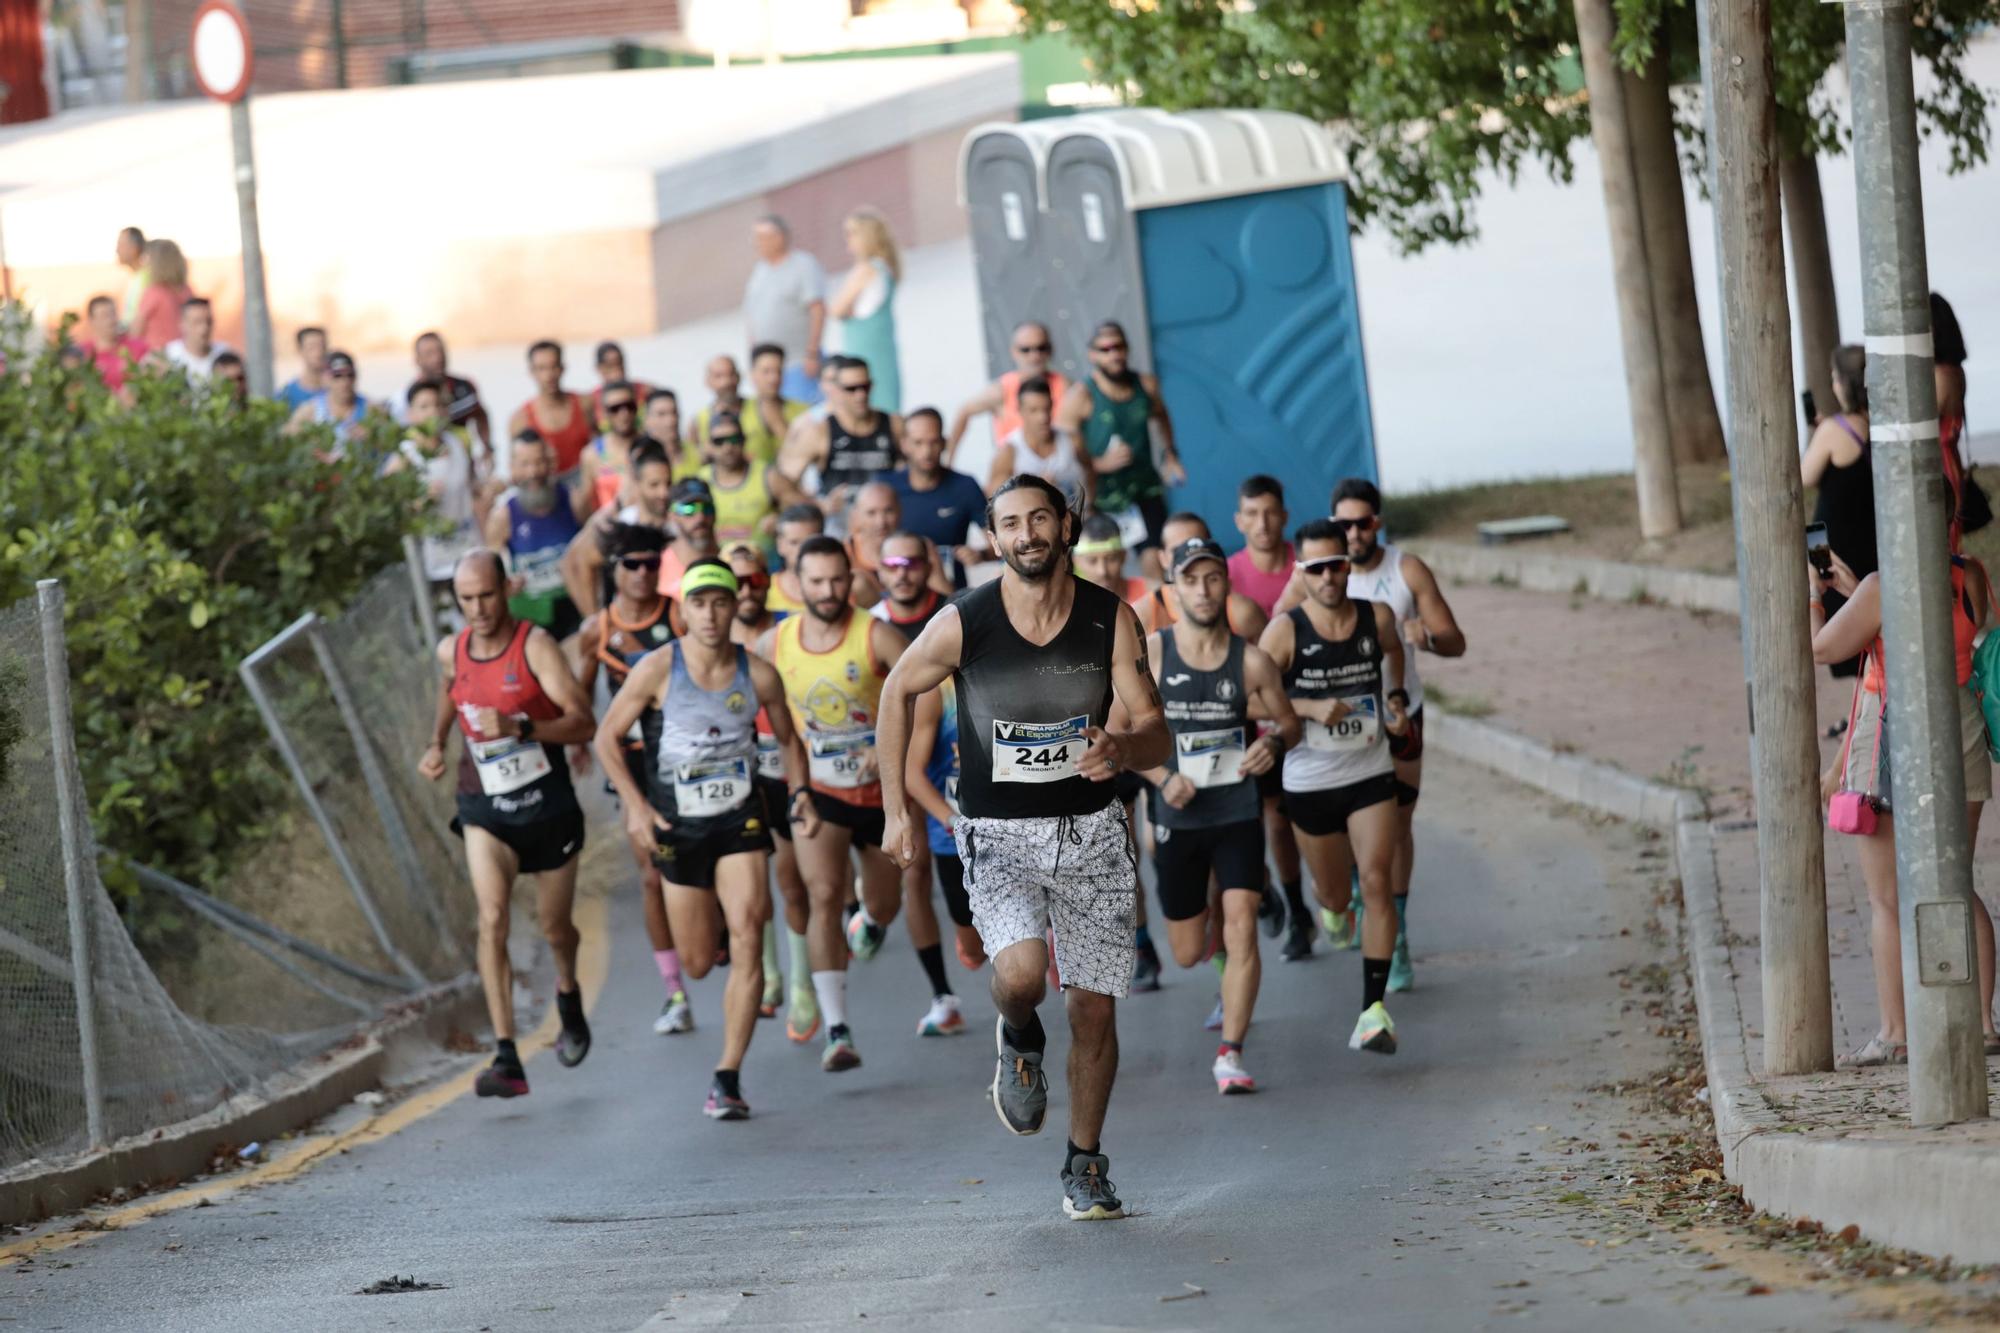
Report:
[[[826,652],[810,652],[800,642],[804,622],[806,616],[786,616],[778,624],[772,664],[784,681],[792,723],[806,741],[812,787],[848,805],[880,807],[874,721],[888,673],[868,646],[874,616],[850,612],[848,632]]]

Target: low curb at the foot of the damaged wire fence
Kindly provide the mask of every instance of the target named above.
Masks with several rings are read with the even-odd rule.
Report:
[[[236,1097],[208,1115],[122,1139],[98,1153],[34,1161],[0,1175],[0,1225],[36,1223],[74,1213],[116,1189],[184,1181],[208,1169],[218,1151],[270,1141],[320,1119],[376,1087],[386,1067],[412,1043],[440,1041],[452,1029],[476,1029],[486,1007],[478,977],[432,987],[306,1069],[278,1075],[258,1095]]]

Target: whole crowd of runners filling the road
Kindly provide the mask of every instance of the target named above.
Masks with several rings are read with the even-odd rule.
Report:
[[[332,426],[338,450],[376,408],[324,330],[296,348],[294,422]],[[1092,332],[1080,382],[1052,368],[1042,324],[1010,350],[1014,368],[946,416],[878,406],[856,356],[814,352],[804,380],[774,342],[718,354],[684,410],[614,342],[590,390],[538,342],[536,396],[494,430],[444,340],[416,342],[394,404],[406,440],[370,466],[418,470],[450,528],[424,550],[460,628],[438,644],[420,771],[454,773],[456,731],[496,1037],[478,1095],[528,1093],[506,947],[524,875],[556,963],[556,1059],[590,1053],[572,925],[584,783],[616,795],[644,885],[654,1031],[720,1027],[714,1119],[750,1115],[760,1019],[828,1073],[862,1067],[848,975],[898,917],[916,1037],[968,1029],[948,945],[966,971],[990,965],[990,1099],[1012,1133],[1042,1129],[1040,1005],[1062,991],[1068,1217],[1122,1217],[1102,1143],[1116,1001],[1158,989],[1156,939],[1214,969],[1220,1093],[1258,1087],[1260,935],[1284,961],[1358,951],[1348,1045],[1396,1051],[1418,662],[1466,646],[1438,580],[1386,544],[1366,478],[1328,496],[1194,478],[1236,490],[1230,554],[1168,506],[1190,478],[1118,324]],[[952,460],[980,416],[996,448],[972,478]],[[688,983],[718,967],[720,1013],[698,1015]]]

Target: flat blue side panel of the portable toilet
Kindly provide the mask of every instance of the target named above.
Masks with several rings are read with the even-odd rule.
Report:
[[[1236,546],[1236,482],[1284,482],[1292,524],[1376,478],[1346,192],[1316,184],[1138,214],[1154,374],[1190,484]]]

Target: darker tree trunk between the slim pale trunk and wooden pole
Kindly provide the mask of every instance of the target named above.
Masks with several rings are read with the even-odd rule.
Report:
[[[1644,74],[1622,72],[1640,216],[1646,226],[1646,268],[1652,314],[1660,330],[1660,374],[1666,380],[1666,424],[1674,462],[1722,462],[1722,416],[1708,378],[1702,310],[1694,300],[1694,252],[1688,248],[1688,196],[1674,148],[1674,102],[1666,76],[1666,34]]]

